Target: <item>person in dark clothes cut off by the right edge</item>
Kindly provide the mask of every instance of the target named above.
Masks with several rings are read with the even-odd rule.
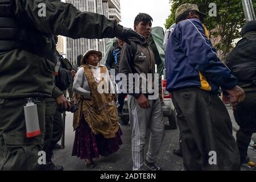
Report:
[[[245,90],[245,100],[233,107],[234,117],[240,126],[237,146],[241,164],[249,162],[247,148],[251,135],[256,132],[256,20],[242,27],[242,39],[227,57],[228,67]]]

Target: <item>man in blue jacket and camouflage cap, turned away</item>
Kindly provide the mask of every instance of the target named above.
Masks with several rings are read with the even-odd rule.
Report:
[[[184,168],[240,170],[232,122],[218,94],[221,87],[237,103],[245,93],[218,59],[200,22],[204,15],[197,5],[178,7],[166,48],[167,90],[177,110]]]

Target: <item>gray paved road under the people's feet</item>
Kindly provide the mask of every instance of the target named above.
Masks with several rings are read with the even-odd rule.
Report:
[[[233,122],[233,127],[238,129],[238,126],[234,122],[234,117],[232,110],[228,108],[230,113],[230,118]],[[72,127],[73,114],[67,113],[66,117],[66,126],[65,126],[65,148],[63,150],[56,150],[53,158],[53,162],[57,165],[62,165],[65,170],[76,170],[76,171],[86,171],[88,170],[85,167],[84,160],[77,158],[76,156],[71,156],[73,139],[75,133],[73,132]],[[165,136],[160,151],[160,156],[158,163],[164,170],[167,171],[180,171],[183,169],[183,160],[172,154],[172,151],[178,148],[178,139],[179,139],[179,130],[170,130],[168,129],[167,118],[165,120]],[[123,144],[121,145],[119,151],[108,157],[100,157],[94,162],[96,167],[93,170],[99,171],[130,171],[132,169],[132,160],[131,160],[131,128],[130,125],[121,126],[123,131]],[[233,132],[235,136],[236,133]],[[147,146],[146,146],[147,148]],[[256,156],[255,151],[249,150],[249,156],[255,161],[254,156]],[[146,156],[146,154],[145,154]],[[242,168],[242,170],[247,170],[247,168]]]

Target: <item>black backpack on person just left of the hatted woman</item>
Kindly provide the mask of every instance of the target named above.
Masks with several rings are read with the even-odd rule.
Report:
[[[73,82],[73,77],[71,76],[72,65],[69,63],[68,59],[60,57],[60,67],[59,72],[55,76],[55,85],[61,91],[67,90],[69,85]]]

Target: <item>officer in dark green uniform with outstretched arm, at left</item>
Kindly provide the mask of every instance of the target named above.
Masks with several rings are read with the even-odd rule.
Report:
[[[0,170],[38,170],[45,130],[46,98],[56,94],[51,35],[77,38],[123,38],[140,35],[104,15],[81,12],[51,0],[0,0]],[[24,106],[32,97],[41,134],[26,137]],[[56,97],[69,109],[63,95]]]

